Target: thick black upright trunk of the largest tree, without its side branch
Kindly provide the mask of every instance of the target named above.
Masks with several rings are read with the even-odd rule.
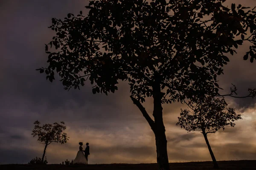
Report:
[[[155,80],[153,87],[153,98],[154,98],[154,127],[152,128],[157,147],[157,165],[159,170],[169,170],[169,160],[167,154],[167,140],[165,135],[165,127],[163,124],[163,107],[162,98],[163,93],[160,88],[160,81]]]

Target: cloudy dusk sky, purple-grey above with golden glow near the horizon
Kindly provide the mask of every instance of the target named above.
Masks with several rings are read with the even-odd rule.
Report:
[[[227,0],[227,5],[241,3]],[[66,91],[61,82],[46,81],[35,69],[47,66],[44,44],[54,32],[51,18],[79,14],[87,0],[0,0],[0,164],[26,164],[41,157],[44,146],[31,133],[33,122],[64,121],[70,137],[67,144],[47,147],[49,164],[74,159],[79,142],[90,143],[89,164],[156,162],[154,133],[129,98],[129,86],[108,96],[92,93],[90,82],[81,90]],[[256,6],[244,0],[243,6]],[[256,63],[244,61],[248,44],[230,56],[219,78],[225,92],[236,84],[239,95],[256,87]],[[224,92],[223,92],[224,93]],[[256,159],[256,100],[227,98],[243,118],[235,128],[208,135],[217,160]],[[152,113],[152,99],[144,107]],[[163,118],[170,162],[209,161],[211,157],[199,132],[187,133],[175,126],[180,103],[164,104]]]

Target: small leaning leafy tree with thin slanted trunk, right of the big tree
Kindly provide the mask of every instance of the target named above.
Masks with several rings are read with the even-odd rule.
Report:
[[[189,104],[192,109],[181,109],[179,121],[176,124],[186,131],[191,132],[200,130],[204,135],[204,139],[212,157],[214,168],[219,168],[215,156],[209,144],[207,134],[215,133],[219,129],[225,127],[234,127],[234,121],[241,119],[241,115],[237,115],[234,108],[227,107],[226,101],[219,98],[207,96],[204,101],[197,100],[194,104]]]

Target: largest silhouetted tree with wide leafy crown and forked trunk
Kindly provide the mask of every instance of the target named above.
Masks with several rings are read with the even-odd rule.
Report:
[[[52,18],[49,66],[38,70],[51,82],[57,72],[65,89],[89,79],[94,94],[115,92],[119,81],[128,81],[154,132],[159,169],[169,170],[162,104],[219,95],[217,75],[227,55],[247,41],[244,60],[255,58],[256,14],[241,5],[227,8],[225,0],[148,1],[92,0],[87,16]],[[154,98],[154,120],[142,105],[146,97]]]

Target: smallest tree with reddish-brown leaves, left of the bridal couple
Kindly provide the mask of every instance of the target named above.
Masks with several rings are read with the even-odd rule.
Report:
[[[63,132],[66,129],[63,121],[61,121],[61,124],[55,122],[54,124],[44,124],[42,126],[40,126],[41,123],[39,121],[35,121],[34,124],[35,127],[31,135],[33,137],[38,136],[38,141],[44,144],[44,154],[41,159],[41,163],[43,163],[47,146],[52,142],[67,143],[69,137],[67,137],[67,133]]]

